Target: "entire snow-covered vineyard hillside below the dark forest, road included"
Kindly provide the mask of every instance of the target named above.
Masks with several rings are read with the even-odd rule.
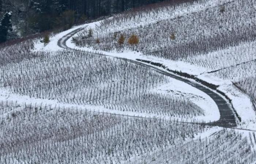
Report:
[[[0,163],[255,163],[255,4],[155,5],[0,48]]]

